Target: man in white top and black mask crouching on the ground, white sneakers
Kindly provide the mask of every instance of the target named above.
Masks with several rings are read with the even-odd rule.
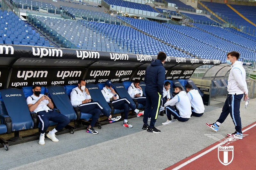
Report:
[[[175,96],[164,104],[168,120],[162,123],[163,125],[174,122],[176,119],[180,122],[186,122],[190,118],[191,105],[187,93],[182,91],[180,86],[176,86],[174,94]],[[176,106],[177,109],[172,106]],[[173,120],[171,115],[173,116]]]

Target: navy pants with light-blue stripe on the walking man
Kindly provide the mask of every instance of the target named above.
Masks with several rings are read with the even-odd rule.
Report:
[[[242,133],[242,124],[240,117],[240,102],[243,98],[244,94],[228,94],[228,97],[222,107],[222,112],[220,114],[217,122],[223,123],[227,118],[228,114],[230,114],[233,123],[235,125],[235,129],[237,132]]]

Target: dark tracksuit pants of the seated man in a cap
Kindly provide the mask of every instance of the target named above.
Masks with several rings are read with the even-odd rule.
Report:
[[[132,110],[136,109],[125,97],[112,101],[112,104],[115,109],[124,109],[124,119],[128,119],[129,107]]]

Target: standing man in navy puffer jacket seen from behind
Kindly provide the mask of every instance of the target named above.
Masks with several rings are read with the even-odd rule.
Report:
[[[166,54],[160,51],[157,58],[151,62],[147,67],[145,73],[145,93],[146,93],[146,107],[143,117],[143,130],[148,132],[160,133],[161,130],[156,129],[155,122],[160,108],[161,98],[163,95],[165,68],[163,66]],[[150,125],[148,125],[148,115],[151,111]]]

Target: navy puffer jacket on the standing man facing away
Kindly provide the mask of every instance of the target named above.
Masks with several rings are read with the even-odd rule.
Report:
[[[145,73],[145,83],[147,92],[159,92],[163,95],[164,88],[164,78],[165,78],[165,68],[160,60],[153,60],[151,64],[147,67]]]

